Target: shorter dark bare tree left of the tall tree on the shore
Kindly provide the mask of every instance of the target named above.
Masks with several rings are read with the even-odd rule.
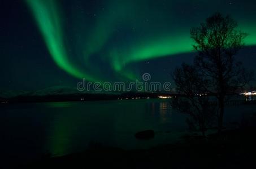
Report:
[[[189,114],[187,119],[189,127],[198,127],[202,135],[205,136],[207,127],[211,126],[216,115],[214,106],[209,103],[209,97],[202,95],[206,93],[205,86],[208,85],[208,82],[200,77],[194,66],[187,64],[175,69],[173,79],[176,84],[176,91],[183,95],[173,99],[173,108]]]

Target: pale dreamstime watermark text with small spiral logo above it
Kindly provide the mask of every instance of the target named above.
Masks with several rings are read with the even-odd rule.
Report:
[[[149,73],[142,74],[142,80],[125,83],[125,82],[86,82],[83,81],[77,83],[77,90],[82,91],[105,91],[105,92],[129,92],[129,91],[149,91],[149,92],[169,92],[171,91],[171,82],[151,82],[151,75]]]

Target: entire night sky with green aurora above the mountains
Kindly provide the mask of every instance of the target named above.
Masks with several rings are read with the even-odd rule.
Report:
[[[255,0],[0,1],[0,90],[38,90],[86,81],[171,81],[191,62],[190,28],[230,14],[249,36],[238,56],[254,69]]]

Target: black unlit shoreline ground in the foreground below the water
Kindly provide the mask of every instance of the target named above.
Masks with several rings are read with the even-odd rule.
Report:
[[[96,146],[83,153],[46,157],[19,168],[256,168],[256,128],[184,137],[147,150]]]

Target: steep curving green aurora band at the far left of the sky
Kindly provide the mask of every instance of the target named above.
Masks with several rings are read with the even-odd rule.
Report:
[[[55,1],[27,0],[27,2],[32,9],[38,28],[40,28],[46,46],[55,63],[77,78],[86,77],[90,81],[96,81],[96,79],[90,77],[90,75],[77,69],[75,65],[72,65],[68,60],[63,41],[62,22],[59,18],[59,10]]]

